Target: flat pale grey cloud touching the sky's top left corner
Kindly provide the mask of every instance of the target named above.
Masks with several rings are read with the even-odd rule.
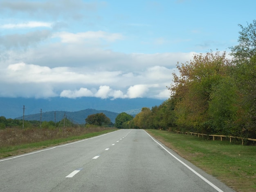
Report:
[[[0,11],[1,13],[7,12],[11,16],[23,14],[33,16],[33,18],[50,16],[78,20],[83,18],[85,13],[96,11],[99,7],[104,7],[105,4],[105,2],[83,2],[81,0],[1,0]]]

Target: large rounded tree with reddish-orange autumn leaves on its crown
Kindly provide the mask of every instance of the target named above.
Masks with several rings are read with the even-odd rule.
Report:
[[[231,66],[226,53],[211,51],[195,55],[190,62],[177,65],[180,76],[173,74],[174,84],[169,87],[176,100],[175,123],[179,127],[211,132],[209,121],[209,102],[211,93],[221,79],[227,75]]]

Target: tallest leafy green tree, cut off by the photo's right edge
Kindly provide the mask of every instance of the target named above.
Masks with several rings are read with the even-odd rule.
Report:
[[[236,125],[240,126],[240,136],[256,137],[256,20],[247,27],[241,27],[239,44],[231,47],[235,66],[233,77],[236,79],[240,103]]]

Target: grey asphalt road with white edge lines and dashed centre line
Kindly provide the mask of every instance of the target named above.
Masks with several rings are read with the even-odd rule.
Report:
[[[0,159],[2,192],[233,192],[141,129]]]

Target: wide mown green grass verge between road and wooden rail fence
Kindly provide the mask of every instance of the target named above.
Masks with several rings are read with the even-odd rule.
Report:
[[[149,134],[238,192],[256,192],[256,147],[154,129]]]

